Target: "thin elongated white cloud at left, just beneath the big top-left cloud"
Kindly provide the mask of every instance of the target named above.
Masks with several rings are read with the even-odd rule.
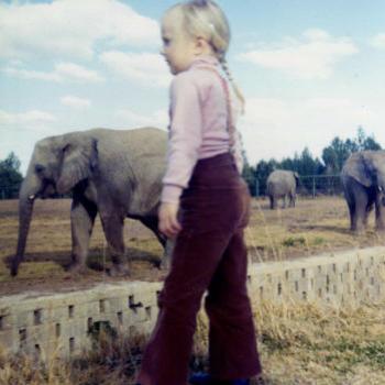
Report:
[[[54,70],[50,73],[23,69],[18,67],[6,67],[2,72],[8,76],[20,79],[37,79],[59,82],[65,80],[75,80],[80,82],[100,82],[105,80],[96,70],[87,69],[75,63],[58,63],[55,65]]]

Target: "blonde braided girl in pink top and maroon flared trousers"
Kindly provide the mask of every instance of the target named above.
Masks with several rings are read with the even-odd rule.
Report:
[[[165,13],[162,38],[175,77],[158,216],[160,230],[176,242],[138,383],[186,384],[196,315],[208,290],[207,384],[246,384],[261,366],[243,241],[250,196],[235,162],[241,156],[232,151],[238,136],[228,84],[219,72],[221,65],[231,81],[224,58],[229,25],[213,1],[193,0]],[[234,91],[243,101],[235,86]]]

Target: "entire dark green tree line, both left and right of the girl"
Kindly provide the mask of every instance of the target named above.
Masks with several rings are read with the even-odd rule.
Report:
[[[285,157],[280,162],[271,158],[262,160],[255,166],[248,162],[245,153],[243,177],[250,191],[256,195],[256,186],[260,194],[266,190],[267,176],[277,168],[297,172],[300,176],[308,175],[339,175],[348,157],[358,151],[382,150],[374,135],[367,135],[363,128],[359,128],[356,136],[341,140],[336,136],[330,144],[322,150],[321,158],[314,157],[308,147],[301,153],[295,153],[293,157]],[[23,177],[20,173],[20,161],[11,152],[3,161],[0,160],[0,199],[18,197]]]

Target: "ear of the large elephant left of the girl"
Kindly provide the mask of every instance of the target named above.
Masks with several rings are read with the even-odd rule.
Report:
[[[59,194],[65,194],[91,176],[98,163],[97,140],[89,136],[69,138],[62,147],[62,156],[56,188]]]

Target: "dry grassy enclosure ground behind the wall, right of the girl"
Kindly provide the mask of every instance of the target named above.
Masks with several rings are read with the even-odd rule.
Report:
[[[246,242],[255,262],[384,245],[385,237],[371,219],[367,231],[358,237],[349,230],[342,198],[302,199],[296,208],[275,211],[268,210],[266,200],[254,200]]]

